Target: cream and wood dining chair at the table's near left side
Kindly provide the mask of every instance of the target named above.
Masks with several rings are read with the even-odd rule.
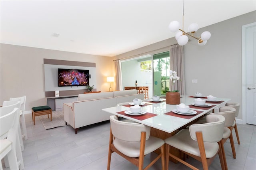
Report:
[[[162,160],[164,170],[164,140],[150,136],[150,127],[140,123],[118,121],[115,115],[110,116],[110,139],[108,149],[108,166],[111,155],[116,152],[132,164],[143,169],[144,156],[160,148],[161,153],[144,169],[150,168],[158,159]]]

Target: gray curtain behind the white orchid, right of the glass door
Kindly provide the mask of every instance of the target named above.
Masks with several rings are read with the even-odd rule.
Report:
[[[174,83],[173,90],[179,90],[180,95],[186,95],[184,76],[184,53],[183,46],[174,44],[170,46],[170,70],[176,71],[180,81]]]

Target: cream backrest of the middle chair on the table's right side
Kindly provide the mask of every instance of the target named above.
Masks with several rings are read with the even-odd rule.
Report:
[[[220,107],[220,112],[211,113],[214,115],[222,115],[225,117],[225,127],[231,127],[234,124],[236,109],[233,107]]]

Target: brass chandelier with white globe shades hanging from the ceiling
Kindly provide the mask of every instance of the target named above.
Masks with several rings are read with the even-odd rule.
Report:
[[[198,40],[198,45],[205,45],[207,40],[210,39],[211,33],[205,31],[201,34],[199,38],[194,36],[194,33],[198,30],[198,24],[192,23],[188,26],[188,32],[184,31],[184,0],[182,0],[182,30],[180,29],[180,23],[178,21],[172,21],[169,24],[169,29],[171,32],[177,32],[175,35],[175,39],[177,40],[179,45],[186,45],[188,43],[188,36],[195,38]]]

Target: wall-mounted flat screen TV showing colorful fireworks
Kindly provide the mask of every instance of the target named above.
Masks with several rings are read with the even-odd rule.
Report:
[[[89,85],[89,70],[58,69],[58,87]]]

